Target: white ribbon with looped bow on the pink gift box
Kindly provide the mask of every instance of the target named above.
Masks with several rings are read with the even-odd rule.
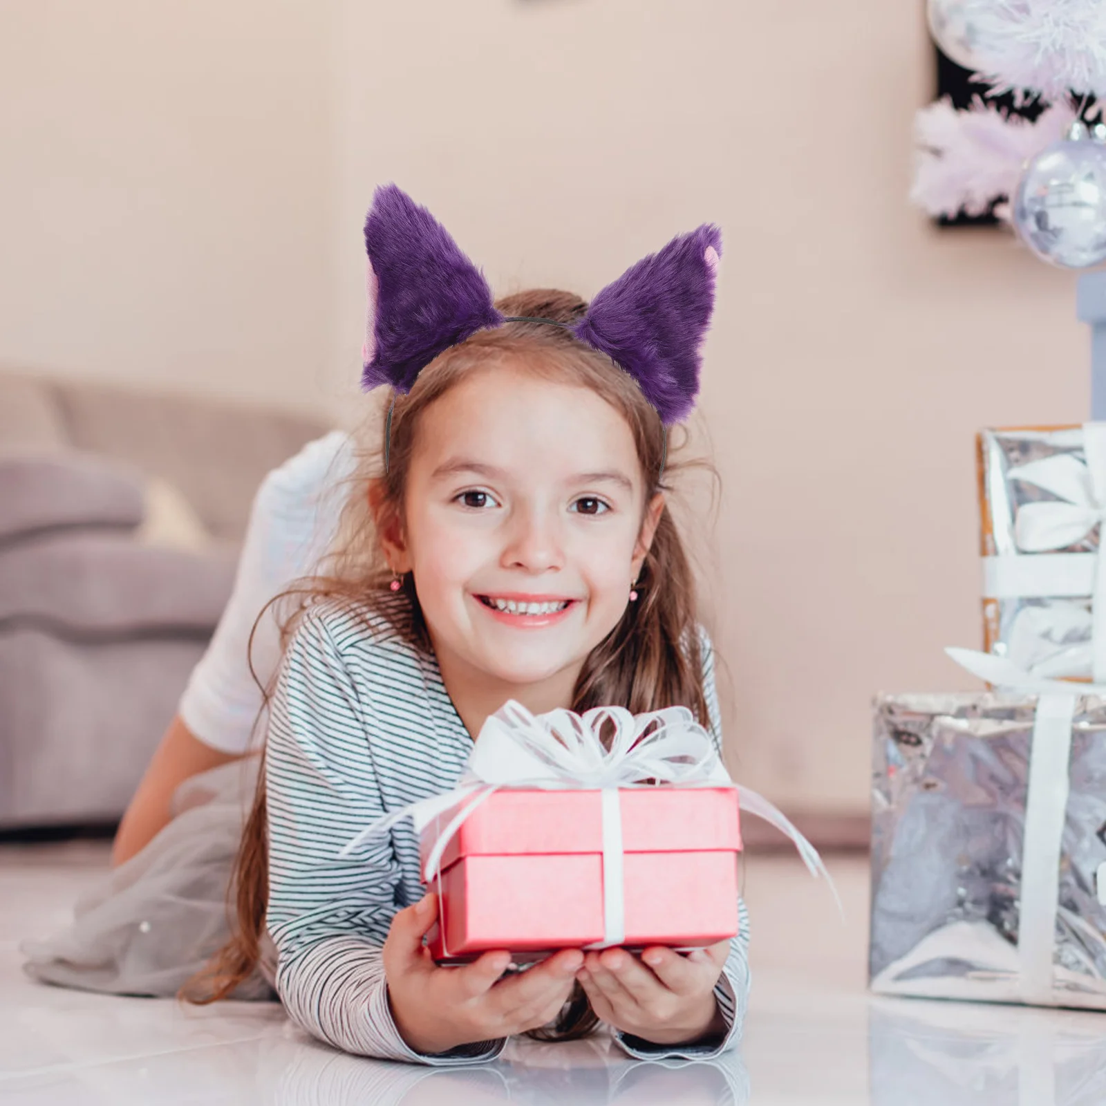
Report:
[[[604,744],[603,737],[608,738]],[[811,875],[836,888],[813,845],[766,799],[733,783],[711,735],[686,707],[668,707],[632,714],[622,707],[596,707],[583,714],[552,710],[532,714],[513,699],[484,722],[465,774],[442,795],[424,799],[378,818],[361,831],[341,854],[348,856],[371,837],[411,818],[421,833],[436,817],[457,808],[438,834],[422,866],[431,884],[453,835],[466,818],[501,787],[597,790],[602,795],[603,940],[593,948],[620,945],[625,939],[622,812],[618,793],[625,787],[668,784],[679,787],[733,787],[743,811],[771,823],[794,842]],[[841,901],[837,900],[838,909]]]

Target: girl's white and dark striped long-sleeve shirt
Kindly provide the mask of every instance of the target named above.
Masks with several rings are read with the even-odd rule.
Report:
[[[432,655],[400,628],[403,596],[379,613],[334,601],[313,607],[293,636],[267,742],[268,928],[276,988],[314,1036],[366,1056],[429,1064],[497,1056],[505,1041],[440,1055],[408,1047],[388,1005],[382,948],[395,914],[424,894],[409,821],[338,851],[369,822],[456,785],[472,741]],[[706,691],[718,738],[713,660],[703,635]],[[728,1032],[718,1046],[651,1046],[618,1036],[632,1055],[710,1056],[740,1035],[749,988],[748,917],[741,904],[716,995]]]

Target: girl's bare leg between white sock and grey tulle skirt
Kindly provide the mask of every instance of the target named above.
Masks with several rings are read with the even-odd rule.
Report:
[[[200,741],[177,714],[119,822],[112,845],[113,866],[129,860],[168,824],[173,794],[185,780],[244,755],[226,753]]]

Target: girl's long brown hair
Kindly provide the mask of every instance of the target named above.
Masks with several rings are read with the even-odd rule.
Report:
[[[504,315],[571,323],[587,304],[570,292],[536,290],[504,296],[495,306]],[[418,445],[422,413],[481,366],[509,362],[543,379],[592,389],[626,419],[645,474],[646,500],[667,488],[667,480],[688,462],[665,461],[665,428],[656,410],[627,373],[606,356],[577,342],[566,330],[542,323],[507,323],[480,331],[440,354],[419,374],[410,393],[396,395],[392,417],[388,468],[383,465],[383,429],[374,448],[359,458],[338,528],[336,552],[320,575],[300,581],[283,596],[286,641],[306,607],[321,597],[337,596],[356,611],[389,594],[392,580],[376,539],[374,509],[383,526],[403,526],[407,473]],[[661,466],[664,463],[664,473]],[[664,483],[661,482],[664,479]],[[372,501],[372,508],[371,508]],[[645,503],[643,505],[643,511]],[[415,581],[408,573],[403,588],[411,617],[399,627],[417,647],[430,650]],[[634,713],[686,706],[710,726],[703,693],[702,657],[696,625],[696,588],[691,564],[666,504],[638,576],[640,598],[630,603],[618,625],[592,651],[580,672],[572,709],[618,705]],[[267,700],[268,700],[268,689]],[[227,998],[248,979],[260,958],[268,900],[268,843],[264,776],[258,784],[234,864],[230,895],[237,918],[232,937],[209,968],[182,991],[192,1002]],[[596,1024],[586,995],[576,989],[552,1027],[534,1031],[542,1040],[583,1036]]]

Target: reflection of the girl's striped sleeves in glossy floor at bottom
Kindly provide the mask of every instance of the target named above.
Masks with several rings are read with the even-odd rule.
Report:
[[[749,1078],[741,1057],[651,1063],[625,1057],[607,1040],[519,1042],[500,1061],[466,1068],[426,1068],[358,1060],[307,1042],[288,1042],[259,1065],[273,1082],[265,1102],[281,1106],[742,1106]],[[283,1061],[278,1055],[283,1052]]]

